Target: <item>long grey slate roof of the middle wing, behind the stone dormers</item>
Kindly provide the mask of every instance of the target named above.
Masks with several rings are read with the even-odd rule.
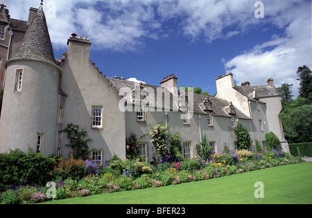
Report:
[[[119,90],[122,87],[128,87],[131,90],[135,89],[135,82],[130,82],[128,80],[121,80],[118,78],[107,78],[106,77],[106,79],[112,85],[112,87],[115,89],[115,91],[117,93],[119,93]],[[143,84],[143,86],[144,87],[150,87],[154,90],[155,102],[157,102],[157,92],[156,92],[157,88],[162,89],[164,92],[168,91],[168,89],[166,89],[166,88],[157,87],[157,86],[150,85],[150,84]],[[193,93],[193,111],[194,111],[194,113],[205,114],[203,102],[205,101],[206,98],[207,98],[207,96],[205,96],[205,95]],[[164,98],[163,98],[163,100],[164,100]],[[211,97],[211,96],[209,96],[209,100],[211,102],[210,106],[211,106],[211,109],[213,110],[212,113],[214,114],[214,116],[230,117],[230,115],[225,111],[225,109],[227,109],[227,107],[229,107],[229,102],[227,102],[227,100],[223,100],[221,98],[215,98],[215,97]],[[170,94],[170,104],[171,104],[171,108],[172,108],[172,104],[175,104],[173,102],[173,95],[172,94]],[[235,111],[236,111],[236,117],[237,118],[250,119],[248,116],[245,116],[244,113],[239,111],[239,109],[235,108]]]

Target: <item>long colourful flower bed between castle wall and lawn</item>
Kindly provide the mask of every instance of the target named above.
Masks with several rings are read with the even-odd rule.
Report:
[[[92,194],[112,193],[141,188],[157,188],[164,185],[177,185],[192,181],[214,179],[220,176],[229,176],[261,170],[267,167],[301,163],[302,158],[296,158],[286,153],[272,150],[270,152],[252,154],[246,150],[217,153],[202,160],[200,156],[184,159],[178,162],[177,158],[164,157],[155,164],[145,161],[127,160],[114,156],[110,161],[94,163],[74,161],[69,158],[68,163],[56,165],[54,173],[55,199],[71,197],[86,197]],[[60,169],[65,170],[60,170]],[[67,169],[67,170],[66,170]],[[66,177],[68,175],[68,177]],[[66,179],[64,179],[66,177]],[[19,185],[0,193],[1,203],[39,203],[49,201],[47,197],[49,187],[40,185]]]

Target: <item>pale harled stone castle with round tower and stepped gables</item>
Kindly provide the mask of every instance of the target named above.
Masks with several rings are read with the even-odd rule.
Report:
[[[196,143],[206,134],[215,152],[236,149],[234,129],[241,123],[253,141],[265,145],[273,131],[288,152],[279,118],[281,100],[272,79],[263,86],[234,84],[232,73],[216,78],[216,97],[177,89],[177,77],[168,75],[160,87],[108,78],[89,58],[91,42],[71,35],[68,51],[55,59],[42,6],[31,8],[28,21],[10,18],[0,10],[1,80],[0,153],[31,147],[45,155],[68,156],[68,123],[85,129],[90,158],[125,157],[125,138],[143,136],[150,125],[163,121],[171,134],[179,131],[182,155],[194,156]],[[141,156],[157,156],[150,138],[139,143]]]

